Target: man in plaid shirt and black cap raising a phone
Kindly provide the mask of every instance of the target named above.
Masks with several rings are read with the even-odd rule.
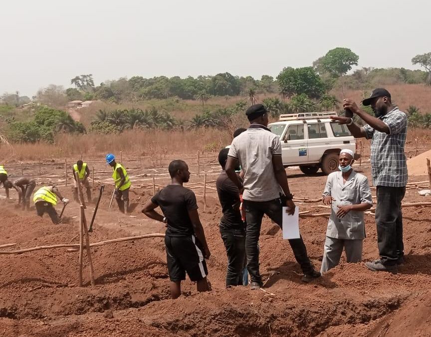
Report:
[[[388,90],[374,89],[371,96],[362,101],[371,105],[376,117],[359,109],[351,99],[344,99],[343,107],[357,114],[367,124],[362,128],[350,117],[332,117],[346,124],[355,138],[371,141],[371,174],[377,189],[376,225],[380,259],[366,262],[372,271],[397,273],[404,264],[403,215],[401,201],[406,193],[407,164],[404,154],[407,116],[392,105]]]

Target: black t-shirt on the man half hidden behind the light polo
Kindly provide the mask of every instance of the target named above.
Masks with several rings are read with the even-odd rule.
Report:
[[[225,171],[222,171],[218,176],[216,188],[218,200],[221,204],[221,211],[223,212],[223,216],[220,219],[220,227],[224,229],[243,229],[244,223],[239,211],[240,199],[238,188],[229,179]]]

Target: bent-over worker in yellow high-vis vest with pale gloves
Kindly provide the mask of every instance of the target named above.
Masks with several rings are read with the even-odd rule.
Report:
[[[59,224],[60,218],[54,208],[54,206],[57,205],[58,199],[60,199],[63,204],[69,203],[69,199],[63,198],[56,186],[43,186],[39,188],[33,196],[37,215],[42,217],[44,213],[48,213],[52,223],[55,225]]]

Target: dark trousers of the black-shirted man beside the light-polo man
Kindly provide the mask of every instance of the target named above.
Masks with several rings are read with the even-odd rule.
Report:
[[[220,234],[227,254],[226,287],[240,286],[245,260],[245,230],[220,227]]]

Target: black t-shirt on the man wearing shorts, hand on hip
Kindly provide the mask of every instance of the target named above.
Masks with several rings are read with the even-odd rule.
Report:
[[[195,233],[188,212],[198,209],[192,190],[181,185],[168,185],[157,192],[151,202],[160,206],[168,220],[166,235],[179,237]]]

